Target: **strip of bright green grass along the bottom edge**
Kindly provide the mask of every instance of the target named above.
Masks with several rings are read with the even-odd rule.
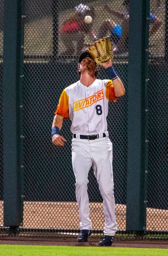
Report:
[[[0,256],[167,256],[168,249],[0,245]]]

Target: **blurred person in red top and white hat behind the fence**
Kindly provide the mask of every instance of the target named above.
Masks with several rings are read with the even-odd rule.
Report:
[[[96,37],[91,24],[84,22],[86,15],[94,18],[94,8],[79,4],[75,7],[75,13],[64,21],[63,27],[60,30],[60,38],[64,44],[64,49],[66,49],[64,54],[79,55],[86,48],[84,45],[85,34]]]

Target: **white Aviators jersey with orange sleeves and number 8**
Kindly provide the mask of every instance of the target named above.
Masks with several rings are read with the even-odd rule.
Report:
[[[106,132],[108,101],[117,101],[112,80],[96,79],[88,87],[77,81],[63,90],[55,114],[69,116],[72,133]]]

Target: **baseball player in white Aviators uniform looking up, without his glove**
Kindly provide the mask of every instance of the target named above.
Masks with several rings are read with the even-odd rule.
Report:
[[[117,102],[125,94],[124,85],[117,76],[112,61],[103,63],[108,79],[96,79],[97,64],[91,55],[83,52],[79,57],[80,80],[66,87],[55,111],[52,124],[52,142],[64,146],[61,136],[63,119],[70,118],[72,135],[72,166],[76,178],[76,199],[79,208],[80,233],[78,242],[87,242],[91,235],[88,172],[93,167],[103,198],[105,215],[104,237],[99,245],[111,245],[117,230],[115,216],[112,168],[112,142],[108,137],[108,102]]]

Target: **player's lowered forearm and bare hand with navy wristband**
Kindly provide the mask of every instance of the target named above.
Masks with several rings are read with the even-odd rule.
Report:
[[[60,129],[62,128],[63,116],[57,114],[54,116],[52,122],[52,143],[55,146],[64,146],[64,141],[67,142],[62,136],[59,135]]]

